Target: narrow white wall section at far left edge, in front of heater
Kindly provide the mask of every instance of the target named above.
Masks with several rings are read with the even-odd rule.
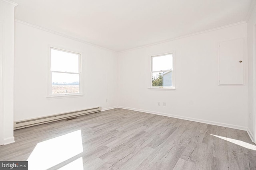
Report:
[[[14,6],[0,0],[0,145],[14,142]]]

